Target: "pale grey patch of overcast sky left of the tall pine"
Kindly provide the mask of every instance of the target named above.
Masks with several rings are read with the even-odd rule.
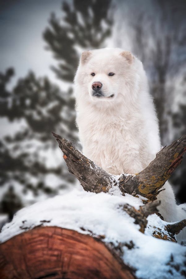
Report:
[[[56,82],[50,65],[56,64],[46,51],[42,32],[50,13],[61,14],[61,0],[0,0],[0,71],[15,68],[16,76],[24,77],[28,70],[38,76],[48,75]],[[61,82],[58,80],[59,85]]]

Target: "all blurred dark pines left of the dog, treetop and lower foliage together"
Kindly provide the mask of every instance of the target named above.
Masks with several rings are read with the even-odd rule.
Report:
[[[80,56],[77,49],[104,46],[111,33],[110,3],[110,0],[75,0],[72,5],[63,2],[62,20],[51,15],[44,39],[60,61],[58,68],[52,69],[62,81],[73,81]],[[0,140],[3,158],[0,159],[3,193],[0,211],[7,212],[9,218],[18,207],[58,194],[73,184],[74,177],[63,166],[51,131],[69,140],[77,139],[72,86],[66,92],[61,91],[48,78],[37,78],[30,72],[8,90],[13,75],[11,68],[0,73],[0,117],[20,127],[15,135]],[[10,210],[12,197],[17,202]]]

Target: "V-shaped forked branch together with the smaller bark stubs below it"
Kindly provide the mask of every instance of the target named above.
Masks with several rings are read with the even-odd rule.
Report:
[[[135,224],[140,225],[139,230],[142,233],[145,232],[147,226],[147,217],[158,213],[157,206],[160,205],[160,201],[156,200],[156,196],[162,191],[162,186],[181,163],[182,156],[186,151],[185,135],[173,141],[169,146],[162,148],[149,166],[140,173],[136,175],[122,174],[118,178],[98,167],[63,137],[54,132],[53,135],[63,151],[63,158],[68,170],[80,181],[85,191],[106,193],[118,186],[123,195],[125,193],[135,197],[141,195],[147,199],[144,201],[146,204],[140,206],[139,210],[128,204],[123,206],[123,210],[135,219]],[[154,202],[149,202],[149,200]],[[160,214],[159,216],[162,217]],[[178,234],[184,227],[186,227],[186,220],[165,226],[164,232],[161,233],[158,228],[154,227],[153,236],[174,242],[175,234]]]

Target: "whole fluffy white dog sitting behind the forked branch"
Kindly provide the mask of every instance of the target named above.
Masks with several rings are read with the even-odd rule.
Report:
[[[75,76],[76,122],[86,157],[107,172],[136,174],[160,150],[158,119],[143,64],[129,51],[85,51]],[[186,218],[171,185],[158,195],[167,222]],[[184,231],[177,236],[185,239]]]

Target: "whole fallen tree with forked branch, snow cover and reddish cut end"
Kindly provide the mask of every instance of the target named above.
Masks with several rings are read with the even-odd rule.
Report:
[[[162,263],[160,261],[160,266],[157,263],[156,272],[158,269],[161,270],[162,264],[163,272],[165,270],[168,272],[168,277],[161,273],[164,278],[171,278],[178,274],[180,278],[182,276],[184,278],[186,270],[182,260],[183,255],[186,254],[186,248],[175,243],[175,234],[186,226],[186,220],[168,224],[160,219],[161,216],[153,214],[158,214],[157,206],[160,204],[160,201],[156,200],[158,193],[182,161],[182,156],[186,151],[186,136],[162,148],[149,166],[139,174],[122,174],[118,178],[96,166],[63,137],[55,133],[53,135],[63,151],[63,158],[69,171],[76,176],[85,191],[98,195],[89,196],[90,194],[87,193],[85,196],[76,197],[75,193],[73,201],[71,201],[71,196],[73,196],[71,193],[68,194],[68,198],[58,197],[58,201],[54,199],[54,204],[56,203],[56,206],[58,204],[55,212],[53,207],[49,208],[46,202],[41,207],[33,205],[23,213],[20,210],[12,222],[6,224],[1,232],[0,240],[3,242],[0,245],[1,278],[136,278],[136,276],[137,278],[138,276],[147,278],[146,273],[139,268],[145,261],[145,256],[140,254],[142,253],[140,249],[146,245],[144,240],[147,237],[145,235],[147,226],[148,235],[154,237],[150,238],[150,241],[156,241],[153,243],[158,243],[159,239],[168,240],[167,244],[161,243],[161,246],[167,247],[170,241],[171,252],[167,252],[170,254],[170,259]],[[115,196],[115,189],[119,189],[123,197]],[[108,194],[102,192],[113,195],[109,195],[109,204],[107,204]],[[99,196],[100,194],[101,196]],[[132,197],[130,198],[128,194]],[[95,202],[100,197],[101,202],[97,203],[95,207]],[[93,202],[91,202],[91,198]],[[63,211],[60,208],[61,201],[63,201]],[[82,208],[78,206],[85,201],[89,206],[86,208],[89,211],[89,220],[86,215],[79,221],[78,218],[85,214],[86,210],[85,205],[82,205]],[[114,201],[113,207],[111,201]],[[135,202],[138,204],[135,205]],[[54,206],[54,204],[50,203],[50,206]],[[69,211],[68,207],[71,208],[71,206],[72,209]],[[118,227],[113,224],[113,231],[118,232],[118,235],[116,233],[116,237],[113,238],[114,242],[111,241],[113,233],[108,232],[108,224],[103,225],[105,234],[99,234],[99,229],[96,227],[97,224],[105,221],[105,217],[99,216],[101,211],[107,214],[111,209],[113,214],[117,213],[119,216]],[[76,217],[78,210],[81,212],[79,217]],[[61,219],[58,217],[60,224],[55,219],[58,212],[61,214]],[[31,215],[29,216],[29,214]],[[68,217],[70,216],[68,221],[65,219],[66,214]],[[149,216],[153,217],[149,219]],[[71,224],[73,218],[75,220]],[[129,219],[133,220],[132,226],[134,227],[132,228],[130,228]],[[110,222],[112,221],[114,220],[110,220]],[[119,241],[117,238],[119,238],[122,224],[126,224],[127,227],[123,230],[122,241]],[[133,228],[136,230],[135,233],[132,231]],[[130,233],[133,239],[129,241]],[[144,239],[141,241],[143,244],[139,241],[140,237]],[[156,245],[153,244],[153,246]],[[174,245],[178,245],[176,249]],[[134,254],[138,253],[136,259],[141,261],[139,266],[128,259],[130,250],[133,250]],[[179,260],[177,255],[180,255]],[[154,256],[158,259],[158,255]],[[147,257],[150,256],[147,255]],[[146,266],[145,262],[144,265]],[[136,271],[138,268],[139,274]],[[149,270],[149,272],[151,271]],[[155,278],[153,276],[152,271],[150,277]]]

